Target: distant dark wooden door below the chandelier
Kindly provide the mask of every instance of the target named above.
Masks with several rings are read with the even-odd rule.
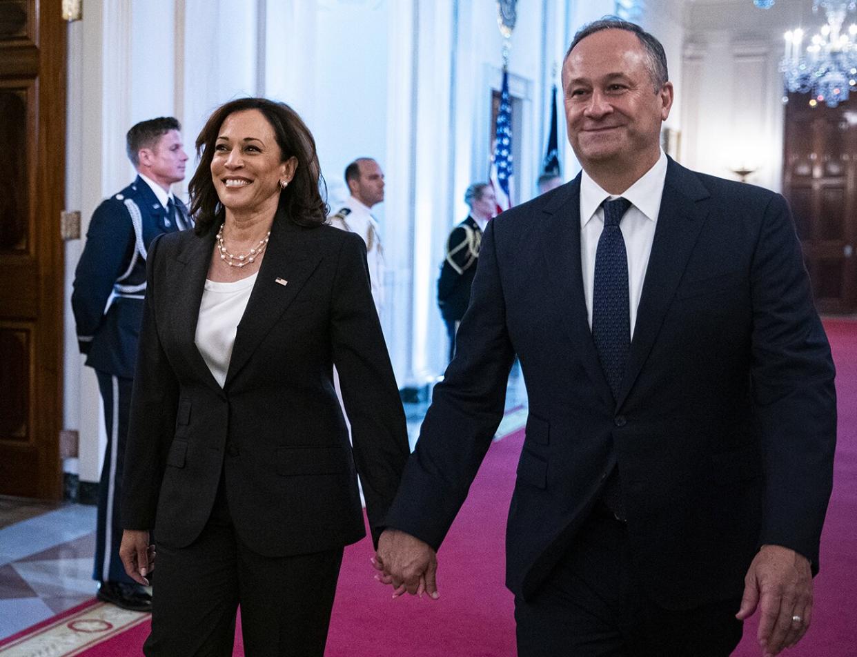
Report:
[[[830,108],[792,94],[783,194],[794,212],[818,309],[857,312],[857,94]]]

